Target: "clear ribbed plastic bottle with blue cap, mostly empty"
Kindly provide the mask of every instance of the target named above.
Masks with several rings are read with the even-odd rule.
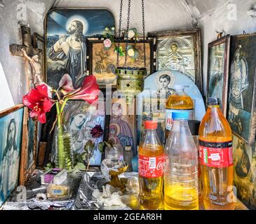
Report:
[[[191,136],[187,112],[173,112],[166,142],[164,209],[198,210],[198,152]]]

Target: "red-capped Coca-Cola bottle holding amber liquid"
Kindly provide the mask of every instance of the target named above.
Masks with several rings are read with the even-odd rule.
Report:
[[[146,135],[139,147],[139,202],[141,209],[163,209],[163,145],[156,134],[157,123],[147,120]]]

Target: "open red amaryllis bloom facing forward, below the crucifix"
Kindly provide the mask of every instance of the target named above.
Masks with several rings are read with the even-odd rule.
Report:
[[[30,111],[31,118],[37,117],[40,123],[46,123],[46,112],[53,106],[53,101],[48,97],[48,86],[38,85],[22,98],[22,102]]]

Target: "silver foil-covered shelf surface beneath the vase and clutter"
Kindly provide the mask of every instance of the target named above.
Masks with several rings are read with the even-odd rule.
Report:
[[[14,192],[7,202],[1,207],[3,210],[32,210],[32,209],[53,209],[53,210],[88,210],[88,209],[120,209],[120,207],[110,206],[101,207],[96,200],[92,199],[93,190],[102,188],[107,182],[105,177],[100,172],[79,172],[68,174],[68,179],[72,179],[72,193],[68,198],[48,200],[46,198],[47,186],[41,185],[42,171],[36,169],[32,177],[26,184],[27,200],[18,200],[20,192]],[[136,172],[126,172],[121,175],[130,180],[137,177]],[[134,195],[133,193],[129,193]],[[128,194],[128,195],[129,195]],[[124,194],[126,195],[126,193]],[[123,204],[123,209],[130,210],[127,204]],[[0,209],[0,210],[1,210]],[[203,203],[199,204],[200,210],[205,210]],[[236,210],[248,210],[247,207],[240,201],[236,202]]]

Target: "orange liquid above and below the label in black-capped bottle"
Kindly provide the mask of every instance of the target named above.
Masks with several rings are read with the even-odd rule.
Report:
[[[232,132],[219,106],[206,111],[199,127],[199,139],[210,142],[232,141]],[[203,205],[206,210],[234,210],[233,165],[216,168],[201,165]]]

